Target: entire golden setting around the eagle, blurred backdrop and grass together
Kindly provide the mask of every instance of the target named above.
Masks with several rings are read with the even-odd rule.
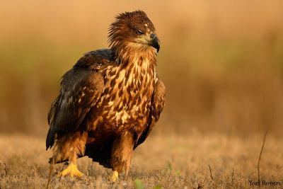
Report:
[[[161,120],[125,181],[109,183],[110,170],[83,158],[85,177],[52,177],[52,187],[134,188],[140,179],[145,188],[253,188],[267,129],[260,176],[283,185],[282,1],[16,0],[0,6],[0,188],[46,187],[47,112],[60,77],[108,47],[117,13],[137,9],[161,40]]]

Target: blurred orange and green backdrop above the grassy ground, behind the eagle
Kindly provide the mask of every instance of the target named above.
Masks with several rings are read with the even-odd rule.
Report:
[[[283,132],[283,1],[1,1],[0,133],[45,137],[59,79],[141,9],[161,40],[155,133]]]

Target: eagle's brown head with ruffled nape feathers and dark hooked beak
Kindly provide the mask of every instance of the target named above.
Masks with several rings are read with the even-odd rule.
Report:
[[[132,50],[156,55],[160,48],[154,24],[144,11],[120,13],[110,25],[108,38],[110,49],[117,56],[123,56]]]

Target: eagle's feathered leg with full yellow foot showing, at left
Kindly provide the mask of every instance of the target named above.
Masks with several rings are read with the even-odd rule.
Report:
[[[54,156],[55,162],[69,160],[69,166],[64,171],[59,172],[57,176],[83,176],[83,173],[76,166],[76,159],[78,156],[84,155],[87,137],[87,132],[76,131],[58,139]]]

